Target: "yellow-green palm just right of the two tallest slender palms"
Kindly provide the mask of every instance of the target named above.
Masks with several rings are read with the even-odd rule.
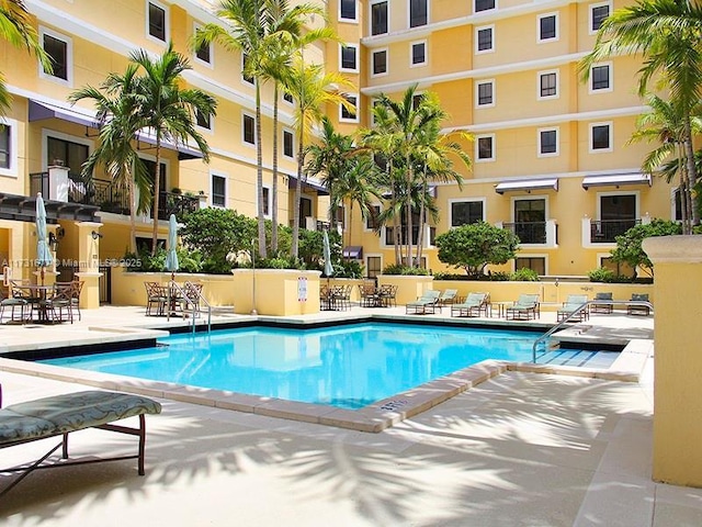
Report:
[[[335,71],[325,71],[324,65],[306,64],[303,51],[297,54],[293,69],[286,80],[285,89],[295,98],[297,103],[295,108],[297,182],[293,205],[293,240],[291,246],[291,256],[295,259],[298,257],[299,249],[299,201],[304,177],[305,145],[309,139],[313,127],[325,115],[328,104],[343,104],[350,111],[355,110],[340,91],[343,88],[351,87],[352,83],[344,76]]]

